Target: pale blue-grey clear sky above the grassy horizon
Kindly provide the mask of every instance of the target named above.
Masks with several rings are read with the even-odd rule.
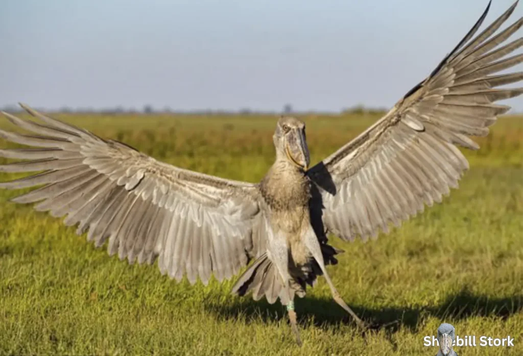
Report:
[[[485,23],[511,3],[493,0]],[[431,72],[486,4],[1,0],[0,106],[389,107]],[[509,21],[522,15],[520,4]],[[523,110],[523,99],[507,103]]]

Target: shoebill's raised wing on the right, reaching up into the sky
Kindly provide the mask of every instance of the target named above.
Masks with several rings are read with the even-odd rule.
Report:
[[[313,205],[324,230],[344,240],[375,237],[379,228],[388,232],[389,222],[399,226],[424,204],[440,202],[449,187],[458,187],[469,164],[454,145],[478,149],[468,136],[486,136],[496,116],[510,109],[493,102],[523,92],[495,89],[523,79],[523,73],[494,75],[523,61],[521,54],[503,58],[520,48],[522,38],[500,46],[523,19],[494,35],[516,4],[471,40],[487,7],[429,77],[376,124],[309,170],[318,187]]]

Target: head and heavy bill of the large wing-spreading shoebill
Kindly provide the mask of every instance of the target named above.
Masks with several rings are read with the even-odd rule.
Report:
[[[274,146],[277,156],[306,171],[309,168],[309,148],[305,139],[305,123],[291,116],[282,116],[276,125]]]

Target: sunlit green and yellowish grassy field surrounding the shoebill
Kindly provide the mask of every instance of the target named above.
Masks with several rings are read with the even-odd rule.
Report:
[[[56,116],[236,180],[260,180],[274,159],[272,116]],[[303,118],[312,162],[376,120]],[[383,327],[358,331],[320,279],[296,303],[302,348],[278,303],[231,296],[234,281],[191,287],[156,265],[129,266],[59,219],[7,203],[18,192],[0,191],[0,354],[435,355],[423,337],[448,322],[461,336],[515,338],[513,348],[455,347],[460,356],[521,355],[523,118],[500,118],[477,141],[482,149],[466,153],[470,172],[443,204],[377,241],[332,237],[346,251],[328,267],[334,283],[360,316]]]

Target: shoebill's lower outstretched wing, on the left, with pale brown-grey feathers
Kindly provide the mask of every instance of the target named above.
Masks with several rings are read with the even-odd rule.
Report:
[[[163,274],[191,283],[230,278],[251,257],[264,253],[259,231],[263,214],[257,186],[196,173],[162,162],[84,129],[22,107],[43,123],[3,113],[37,135],[0,130],[13,143],[36,146],[0,150],[0,157],[24,159],[0,165],[0,172],[45,172],[0,183],[19,189],[42,185],[13,199],[39,203],[36,210],[67,215],[68,226],[130,263],[153,263]]]

